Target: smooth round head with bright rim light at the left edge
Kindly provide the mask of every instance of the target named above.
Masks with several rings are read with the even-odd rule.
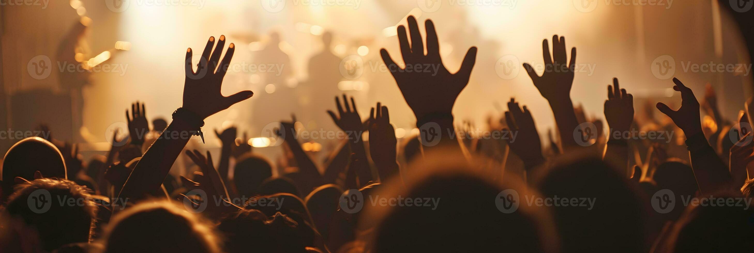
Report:
[[[46,178],[66,178],[63,154],[60,154],[55,145],[39,137],[16,142],[3,158],[2,194],[8,197],[13,193],[14,178],[30,180],[34,178],[36,171]]]

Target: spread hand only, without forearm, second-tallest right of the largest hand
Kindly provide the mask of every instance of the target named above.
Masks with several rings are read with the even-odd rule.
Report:
[[[537,75],[535,69],[524,63],[523,67],[532,78],[534,86],[545,99],[552,102],[571,99],[574,70],[576,67],[576,47],[571,48],[571,60],[566,56],[566,38],[553,35],[553,57],[550,58],[550,46],[547,39],[542,41],[542,55],[544,56],[544,72]],[[568,62],[568,65],[566,65]]]

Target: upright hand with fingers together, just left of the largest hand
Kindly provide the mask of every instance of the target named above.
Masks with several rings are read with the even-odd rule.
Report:
[[[384,181],[398,172],[397,139],[388,107],[377,102],[376,111],[372,108],[369,112],[369,155],[379,170],[380,180]]]

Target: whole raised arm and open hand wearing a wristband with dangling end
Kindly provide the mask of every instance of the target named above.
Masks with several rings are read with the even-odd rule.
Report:
[[[201,55],[197,72],[192,68],[192,50],[186,50],[183,107],[176,110],[173,122],[146,151],[118,197],[137,199],[146,196],[146,193],[156,191],[170,171],[170,166],[173,166],[173,162],[189,142],[190,134],[201,130],[205,118],[253,95],[250,90],[244,90],[231,96],[222,96],[222,78],[228,70],[235,47],[231,43],[221,61],[220,54],[225,45],[225,36],[220,36],[215,50],[212,50],[214,44],[215,38],[210,37]]]

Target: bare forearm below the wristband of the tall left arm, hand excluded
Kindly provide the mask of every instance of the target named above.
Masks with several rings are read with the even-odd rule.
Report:
[[[133,168],[118,197],[136,199],[156,191],[195,131],[189,123],[174,119]]]

